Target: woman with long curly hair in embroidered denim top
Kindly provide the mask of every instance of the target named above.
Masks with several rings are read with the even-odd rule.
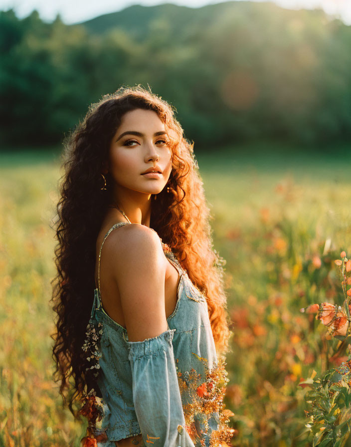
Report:
[[[121,87],[65,143],[54,376],[83,445],[230,445],[222,258],[173,107]]]

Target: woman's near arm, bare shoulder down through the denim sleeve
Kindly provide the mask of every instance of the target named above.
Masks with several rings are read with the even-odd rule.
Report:
[[[128,225],[115,275],[128,333],[135,412],[146,446],[194,447],[186,429],[173,336],[165,311],[166,262],[158,235]]]

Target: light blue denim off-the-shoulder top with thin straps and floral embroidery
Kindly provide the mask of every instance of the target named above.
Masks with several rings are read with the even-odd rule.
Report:
[[[124,224],[129,223],[113,225],[103,243]],[[91,369],[96,368],[104,408],[102,430],[108,438],[99,446],[115,447],[113,441],[138,434],[145,446],[230,446],[233,429],[228,422],[233,413],[223,404],[226,364],[217,358],[206,297],[160,240],[180,277],[167,331],[130,342],[126,328],[103,309],[99,288],[94,290],[86,342],[89,334],[93,336],[96,361],[92,359]]]

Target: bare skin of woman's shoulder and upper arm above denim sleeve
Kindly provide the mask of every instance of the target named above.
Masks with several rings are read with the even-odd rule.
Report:
[[[168,328],[165,312],[167,259],[159,236],[139,224],[124,227],[113,275],[118,284],[129,341],[143,341]]]

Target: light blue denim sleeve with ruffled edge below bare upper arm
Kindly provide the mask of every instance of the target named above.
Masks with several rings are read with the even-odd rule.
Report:
[[[144,341],[128,341],[135,412],[146,446],[194,447],[185,429],[173,336],[176,329]]]

